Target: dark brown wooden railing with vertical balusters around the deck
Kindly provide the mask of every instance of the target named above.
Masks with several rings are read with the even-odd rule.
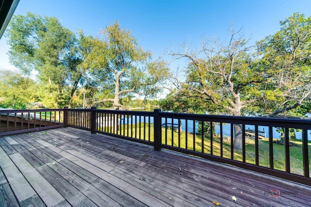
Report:
[[[53,110],[50,111],[53,113]],[[311,120],[200,115],[160,110],[64,108],[54,113],[56,111],[63,114],[63,122],[55,125],[57,121],[54,121],[52,126],[35,123],[35,126],[81,128],[91,133],[153,145],[157,151],[161,148],[173,150],[311,186],[311,141],[308,141]],[[7,114],[11,111],[0,111],[1,114],[3,112]],[[39,112],[41,115],[44,113],[37,110],[36,114]],[[10,120],[6,119],[5,123],[10,123]],[[2,122],[1,127],[5,127]],[[16,133],[25,132],[25,129],[15,129]],[[30,129],[33,130],[28,127],[26,131]],[[282,132],[282,139],[276,130]],[[294,139],[294,130],[301,139]],[[0,132],[0,136],[10,133],[13,132],[6,129]],[[241,150],[237,150],[234,143],[239,137],[242,140]],[[281,141],[284,145],[276,143]],[[293,146],[293,143],[296,144]]]

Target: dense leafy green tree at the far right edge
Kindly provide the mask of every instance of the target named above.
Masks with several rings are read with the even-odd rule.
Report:
[[[257,43],[270,77],[262,108],[269,116],[304,115],[311,106],[311,17],[294,13]]]

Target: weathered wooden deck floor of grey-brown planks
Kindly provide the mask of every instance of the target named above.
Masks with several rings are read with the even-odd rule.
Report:
[[[311,206],[311,187],[80,129],[0,146],[1,207]]]

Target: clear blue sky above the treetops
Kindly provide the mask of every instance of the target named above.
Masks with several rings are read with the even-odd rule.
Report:
[[[32,12],[55,16],[71,31],[82,29],[98,35],[109,23],[119,20],[132,31],[139,44],[165,60],[165,49],[189,42],[199,46],[202,35],[220,38],[224,44],[227,28],[234,22],[255,42],[279,30],[279,21],[294,12],[311,16],[311,0],[20,0],[15,14]],[[6,52],[6,38],[0,40],[0,68],[13,69]],[[185,65],[171,64],[174,67]]]

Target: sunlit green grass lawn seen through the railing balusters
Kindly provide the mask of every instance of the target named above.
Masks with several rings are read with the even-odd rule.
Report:
[[[137,125],[121,125],[118,127],[118,134],[128,137],[133,137],[141,140],[154,141],[154,127],[153,124],[146,123],[144,127],[143,123]],[[104,128],[103,131],[110,132],[110,127]],[[150,133],[149,133],[150,131]],[[139,137],[140,134],[140,137]],[[167,140],[165,140],[165,135],[167,134]],[[145,136],[144,136],[145,135]],[[187,137],[187,139],[186,139]],[[230,138],[228,139],[230,140]],[[172,145],[175,147],[180,147],[186,149],[194,150],[197,152],[202,152],[202,136],[193,135],[193,133],[186,133],[183,131],[178,136],[177,131],[172,131],[172,129],[162,127],[162,144]],[[291,141],[298,145],[298,147],[290,147],[290,165],[291,173],[303,175],[303,160],[302,160],[302,142]],[[210,138],[203,139],[204,153],[210,154]],[[212,155],[221,156],[220,152],[220,138],[217,136],[213,137]],[[274,169],[285,171],[285,148],[284,145],[273,144],[274,151]],[[247,139],[245,140],[245,161],[247,163],[255,164],[255,140]],[[242,161],[242,151],[234,150],[233,157],[235,160]],[[226,139],[223,141],[223,157],[231,159],[231,143],[227,142]],[[264,167],[270,167],[269,165],[269,140],[259,140],[259,165]],[[309,141],[309,168],[311,172],[311,141]]]

